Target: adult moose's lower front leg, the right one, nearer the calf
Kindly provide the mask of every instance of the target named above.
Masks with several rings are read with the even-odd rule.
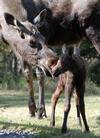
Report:
[[[38,87],[39,87],[39,103],[38,103],[38,118],[47,117],[46,109],[45,109],[45,95],[44,95],[44,81],[45,76],[43,71],[40,68],[36,68],[36,75],[38,79]]]

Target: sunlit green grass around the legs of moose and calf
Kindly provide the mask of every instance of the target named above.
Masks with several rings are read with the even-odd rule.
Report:
[[[94,87],[94,85],[92,86]],[[87,91],[91,91],[92,86],[88,86]],[[85,96],[86,115],[91,132],[88,134],[82,133],[81,128],[77,126],[75,103],[72,98],[72,108],[68,119],[70,133],[62,135],[60,129],[63,118],[63,96],[57,104],[56,127],[52,128],[49,126],[51,113],[50,97],[53,89],[54,82],[46,82],[46,111],[48,117],[43,120],[29,117],[27,107],[28,92],[0,90],[0,129],[29,131],[34,133],[37,138],[100,138],[100,94]],[[37,91],[37,87],[35,90]],[[93,90],[99,91],[96,87]],[[38,102],[38,93],[36,92],[35,95],[36,102]]]

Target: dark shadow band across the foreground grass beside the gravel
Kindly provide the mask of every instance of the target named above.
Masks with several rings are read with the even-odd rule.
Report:
[[[24,131],[26,129],[30,129],[33,134],[35,134],[36,138],[100,138],[96,136],[92,132],[83,133],[79,129],[69,130],[67,134],[61,134],[60,128],[52,128],[49,126],[39,126],[34,124],[19,124],[19,123],[9,123],[0,121],[0,125],[3,125],[3,129],[9,130],[10,127],[18,128],[20,126],[20,130]],[[38,130],[36,132],[36,130]]]

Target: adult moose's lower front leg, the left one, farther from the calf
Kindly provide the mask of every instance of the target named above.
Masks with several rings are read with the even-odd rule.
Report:
[[[33,86],[33,74],[32,74],[32,67],[28,66],[25,71],[25,77],[29,86],[29,113],[31,116],[35,116],[36,112],[36,104],[34,99],[34,86]]]

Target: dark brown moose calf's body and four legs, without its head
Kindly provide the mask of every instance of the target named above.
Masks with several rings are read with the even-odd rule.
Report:
[[[68,58],[69,57],[69,58]],[[52,114],[51,114],[51,125],[55,125],[55,108],[56,103],[59,99],[60,94],[64,90],[65,94],[65,105],[64,105],[64,118],[62,124],[62,133],[67,132],[67,118],[71,108],[71,96],[76,93],[76,109],[77,109],[77,120],[81,125],[80,114],[83,119],[85,131],[89,131],[89,127],[85,115],[85,103],[84,103],[84,92],[85,92],[85,78],[86,70],[83,59],[80,56],[73,55],[68,56],[66,60],[69,60],[69,64],[66,64],[67,71],[59,76],[56,90],[52,95]],[[68,63],[68,62],[67,62]]]

